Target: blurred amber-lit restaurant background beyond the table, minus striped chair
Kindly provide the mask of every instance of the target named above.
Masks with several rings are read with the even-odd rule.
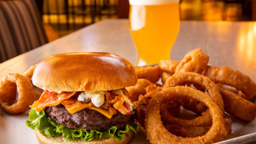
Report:
[[[129,0],[37,0],[37,3],[43,23],[51,26],[44,27],[46,34],[56,32],[59,37],[100,20],[128,18],[129,13]],[[255,21],[256,0],[181,0],[180,17],[208,22]]]

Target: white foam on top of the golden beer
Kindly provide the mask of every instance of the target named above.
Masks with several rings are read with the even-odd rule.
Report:
[[[130,5],[164,5],[179,3],[179,0],[129,0]]]

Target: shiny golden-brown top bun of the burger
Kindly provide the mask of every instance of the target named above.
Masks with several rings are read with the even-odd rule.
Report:
[[[135,85],[129,61],[105,52],[63,53],[43,59],[34,70],[33,84],[51,92],[96,92]]]

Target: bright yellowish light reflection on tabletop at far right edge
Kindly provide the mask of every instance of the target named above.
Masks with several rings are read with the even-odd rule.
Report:
[[[256,23],[251,31],[241,30],[238,36],[238,58],[245,62],[245,65],[251,66],[255,63],[253,54],[256,52]]]

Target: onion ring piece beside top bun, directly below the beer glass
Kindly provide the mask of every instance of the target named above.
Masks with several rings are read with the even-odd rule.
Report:
[[[148,79],[152,83],[156,83],[160,79],[161,70],[159,65],[155,67],[136,67],[135,73],[138,79]]]

